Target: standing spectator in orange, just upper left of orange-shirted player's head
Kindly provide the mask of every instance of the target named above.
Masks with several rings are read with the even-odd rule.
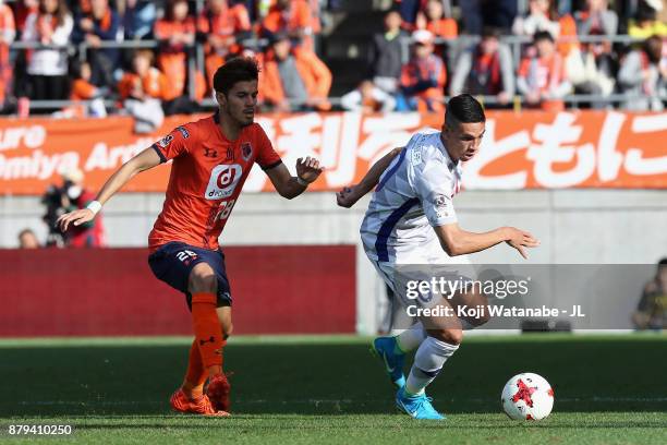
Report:
[[[194,19],[189,16],[186,0],[169,0],[165,17],[155,24],[155,38],[160,41],[158,68],[169,79],[165,100],[183,95],[187,77],[187,47],[195,41]]]

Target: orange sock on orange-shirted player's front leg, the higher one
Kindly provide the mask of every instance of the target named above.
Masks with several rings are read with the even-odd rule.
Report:
[[[216,312],[216,296],[199,292],[192,296],[192,324],[199,348],[202,365],[211,374],[211,366],[222,371],[222,328]]]

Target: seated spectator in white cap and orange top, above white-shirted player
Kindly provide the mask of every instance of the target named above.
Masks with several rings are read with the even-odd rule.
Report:
[[[442,111],[442,96],[447,73],[442,59],[433,53],[434,36],[426,29],[412,34],[413,55],[401,70],[401,92],[398,111]]]

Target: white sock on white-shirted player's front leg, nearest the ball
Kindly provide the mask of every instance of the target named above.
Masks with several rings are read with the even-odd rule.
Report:
[[[405,392],[411,395],[423,393],[457,349],[459,345],[427,337],[414,356],[414,363],[405,382]]]

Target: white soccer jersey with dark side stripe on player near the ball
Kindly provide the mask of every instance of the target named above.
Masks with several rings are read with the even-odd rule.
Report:
[[[457,221],[451,200],[461,173],[440,132],[412,136],[380,177],[368,204],[361,227],[368,257],[379,263],[432,263],[435,249],[446,256],[433,227]]]

